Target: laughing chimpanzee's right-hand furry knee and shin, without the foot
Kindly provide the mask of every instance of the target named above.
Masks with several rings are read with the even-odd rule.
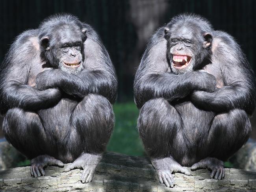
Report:
[[[208,137],[213,155],[226,161],[248,140],[251,129],[249,117],[241,109],[216,115]]]

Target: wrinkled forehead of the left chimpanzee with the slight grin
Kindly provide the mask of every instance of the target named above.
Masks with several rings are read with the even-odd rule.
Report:
[[[56,41],[63,44],[66,42],[82,41],[82,31],[77,26],[62,25],[54,32]]]

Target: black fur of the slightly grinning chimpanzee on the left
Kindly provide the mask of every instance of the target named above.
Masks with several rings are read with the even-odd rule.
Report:
[[[101,155],[113,129],[116,97],[117,77],[106,48],[91,26],[72,15],[54,15],[38,29],[24,31],[1,66],[7,140],[30,159],[51,156],[34,159],[34,165]],[[43,175],[38,170],[32,166],[32,175]]]

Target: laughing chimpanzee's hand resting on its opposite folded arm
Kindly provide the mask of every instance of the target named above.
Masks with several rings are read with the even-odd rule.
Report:
[[[200,83],[200,90],[204,90],[206,92],[214,92],[216,89],[215,77],[204,70],[199,70],[198,73],[198,83]]]

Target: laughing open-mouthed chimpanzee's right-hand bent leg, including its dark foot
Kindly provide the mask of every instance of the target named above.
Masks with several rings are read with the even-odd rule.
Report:
[[[210,155],[191,166],[191,170],[208,168],[211,170],[211,178],[223,179],[223,161],[243,146],[250,136],[250,131],[249,118],[241,109],[216,115],[205,144]]]

